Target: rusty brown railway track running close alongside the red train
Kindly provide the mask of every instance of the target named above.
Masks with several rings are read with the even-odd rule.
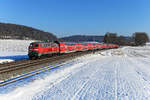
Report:
[[[91,53],[91,52],[90,51],[74,52],[74,53],[64,54],[61,56],[56,55],[56,56],[52,56],[50,58],[43,58],[43,59],[37,59],[37,60],[23,60],[23,61],[17,61],[17,62],[12,62],[12,63],[1,64],[0,65],[0,74],[27,68],[27,67],[31,67],[31,66],[41,65],[44,63],[52,63],[56,60],[59,61],[59,60],[63,59],[65,61],[66,58],[67,59],[73,58],[73,57],[81,56],[81,55],[88,54],[88,53]]]

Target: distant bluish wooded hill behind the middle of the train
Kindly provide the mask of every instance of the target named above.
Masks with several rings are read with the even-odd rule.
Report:
[[[60,41],[65,42],[83,42],[83,41],[96,41],[103,42],[104,36],[90,36],[90,35],[73,35],[69,37],[60,38]]]

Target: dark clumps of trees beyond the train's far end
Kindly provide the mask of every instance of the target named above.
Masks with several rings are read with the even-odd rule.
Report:
[[[145,32],[135,32],[131,37],[117,36],[117,33],[107,32],[104,36],[104,43],[112,43],[118,45],[128,46],[143,46],[149,42],[149,37]]]

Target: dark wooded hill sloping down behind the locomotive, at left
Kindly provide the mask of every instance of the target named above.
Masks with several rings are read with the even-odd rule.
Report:
[[[49,32],[44,32],[32,27],[16,24],[0,23],[1,39],[33,39],[55,41],[57,37]]]

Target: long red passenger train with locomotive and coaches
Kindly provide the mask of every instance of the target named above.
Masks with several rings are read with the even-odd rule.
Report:
[[[43,55],[54,55],[70,53],[77,51],[98,50],[98,49],[118,48],[115,44],[100,43],[63,43],[63,42],[33,42],[29,46],[28,56],[30,59],[36,59]]]

